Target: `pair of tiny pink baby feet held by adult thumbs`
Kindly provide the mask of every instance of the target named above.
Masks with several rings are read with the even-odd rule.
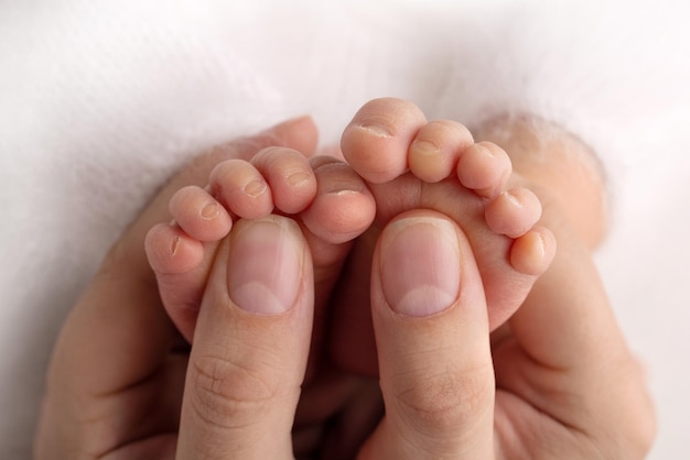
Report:
[[[547,270],[556,241],[537,226],[540,201],[529,189],[511,186],[510,158],[496,144],[475,143],[457,122],[428,122],[411,102],[377,99],[355,114],[341,147],[347,163],[269,147],[250,161],[218,164],[206,188],[174,195],[174,221],[151,229],[147,253],[163,304],[186,340],[193,340],[216,249],[238,219],[278,213],[297,221],[312,254],[316,303],[328,304],[319,293],[330,296],[348,271],[355,282],[332,303],[354,305],[365,315],[374,247],[401,215],[440,212],[460,227],[484,283],[492,330]],[[423,304],[424,296],[414,302]],[[251,308],[279,311],[270,297]],[[401,313],[423,314],[423,305],[414,308]]]

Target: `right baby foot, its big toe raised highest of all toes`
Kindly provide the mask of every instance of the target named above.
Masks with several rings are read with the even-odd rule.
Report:
[[[368,280],[374,244],[396,216],[435,210],[452,218],[470,240],[486,292],[490,329],[505,322],[554,253],[551,232],[535,227],[541,215],[536,195],[521,187],[506,190],[511,176],[506,152],[489,142],[474,143],[460,123],[427,122],[419,108],[398,99],[365,105],[345,129],[341,147],[367,182],[377,207],[371,229],[351,254],[347,270],[353,276]],[[366,288],[339,293],[343,307],[336,307],[334,315],[344,325],[342,333],[370,327],[368,293]],[[362,330],[359,337],[369,342],[360,340],[357,350],[344,350],[337,344],[343,340],[335,336],[341,363],[367,373],[376,369],[362,360],[370,355],[364,350],[374,346],[370,330]]]

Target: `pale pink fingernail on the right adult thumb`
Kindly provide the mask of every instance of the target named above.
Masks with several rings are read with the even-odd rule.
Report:
[[[460,251],[453,224],[405,218],[381,241],[381,287],[393,311],[412,317],[441,313],[460,294]]]

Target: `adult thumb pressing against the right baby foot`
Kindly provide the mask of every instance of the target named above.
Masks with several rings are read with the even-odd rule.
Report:
[[[490,458],[486,298],[460,228],[434,211],[389,223],[374,255],[371,304],[386,417],[363,458]]]

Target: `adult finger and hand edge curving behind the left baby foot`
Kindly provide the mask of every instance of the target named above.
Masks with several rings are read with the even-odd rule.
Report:
[[[147,231],[154,223],[170,219],[168,202],[174,191],[185,185],[203,185],[222,160],[250,157],[268,145],[287,145],[313,154],[315,125],[310,118],[291,120],[200,156],[160,191],[115,243],[96,278],[71,313],[55,346],[39,428],[44,436],[37,437],[37,450],[51,457],[60,454],[61,449],[111,441],[94,436],[83,425],[90,421],[94,414],[110,410],[108,396],[133,390],[136,385],[145,386],[142,382],[159,373],[176,339],[143,250]],[[169,388],[171,393],[180,391],[172,385]],[[141,390],[155,391],[153,385]],[[128,392],[130,395],[139,393]],[[153,393],[141,396],[144,397],[173,401],[168,395]],[[174,404],[165,406],[173,412],[169,419],[175,420]],[[112,419],[118,427],[130,426],[131,418],[138,416],[126,412],[117,414],[122,417]],[[107,448],[111,446],[104,447]]]

